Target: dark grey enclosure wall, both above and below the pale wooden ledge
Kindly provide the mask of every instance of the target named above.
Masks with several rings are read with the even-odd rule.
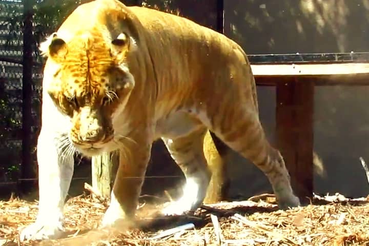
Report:
[[[248,54],[369,51],[366,0],[227,0],[224,5],[226,35]],[[258,93],[260,118],[273,140],[275,89],[258,87]],[[367,195],[369,186],[359,157],[369,162],[368,95],[364,86],[316,87],[314,149],[326,174],[316,175],[315,192]],[[232,192],[249,196],[271,191],[252,165],[243,165],[245,161],[236,154],[232,160]]]

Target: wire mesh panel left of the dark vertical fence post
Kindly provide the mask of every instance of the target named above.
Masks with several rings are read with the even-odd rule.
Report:
[[[0,182],[9,182],[18,176],[22,150],[23,4],[1,1],[0,9]]]

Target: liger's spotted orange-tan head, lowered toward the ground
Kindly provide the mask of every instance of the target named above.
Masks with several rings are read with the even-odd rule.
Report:
[[[70,117],[70,140],[85,155],[98,155],[114,141],[114,117],[134,88],[126,64],[134,45],[126,33],[109,42],[98,33],[80,33],[68,42],[54,33],[40,47],[52,73],[48,95]]]

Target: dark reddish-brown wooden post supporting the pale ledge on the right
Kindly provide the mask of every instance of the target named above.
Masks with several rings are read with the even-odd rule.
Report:
[[[277,81],[276,135],[292,188],[305,203],[313,195],[314,83],[299,79]]]

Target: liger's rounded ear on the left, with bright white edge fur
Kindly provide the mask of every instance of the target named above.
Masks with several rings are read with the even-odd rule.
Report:
[[[43,56],[51,58],[64,58],[68,52],[67,44],[55,32],[40,44],[39,50]]]

